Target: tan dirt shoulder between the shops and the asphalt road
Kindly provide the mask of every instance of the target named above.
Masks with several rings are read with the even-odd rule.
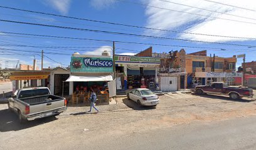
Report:
[[[74,148],[71,145],[90,144],[113,136],[256,115],[256,101],[247,99],[233,101],[221,96],[182,93],[165,94],[160,99],[155,108],[139,107],[127,98],[118,98],[117,104],[97,106],[98,114],[87,113],[88,106],[69,106],[56,118],[22,125],[6,104],[0,104],[0,149],[68,149]]]

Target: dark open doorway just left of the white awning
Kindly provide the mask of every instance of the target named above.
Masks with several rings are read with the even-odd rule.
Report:
[[[54,94],[56,96],[62,96],[62,88],[63,88],[63,95],[69,95],[69,83],[63,82],[68,79],[70,74],[55,74],[54,76]],[[63,85],[64,84],[64,85]]]

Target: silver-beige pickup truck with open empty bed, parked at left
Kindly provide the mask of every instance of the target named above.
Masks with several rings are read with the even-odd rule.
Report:
[[[19,121],[26,121],[56,116],[67,110],[67,100],[51,95],[48,88],[18,89],[8,99],[8,108],[19,116]]]

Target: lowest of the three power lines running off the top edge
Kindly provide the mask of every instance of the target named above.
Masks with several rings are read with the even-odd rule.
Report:
[[[222,19],[222,20],[227,20],[227,21],[242,22],[242,23],[246,23],[246,24],[256,24],[256,23],[254,23],[254,22],[238,21],[238,20],[234,20],[234,19],[225,19],[225,18],[221,18],[221,17],[208,16],[208,15],[204,15],[204,14],[195,14],[195,13],[192,13],[192,12],[177,11],[177,10],[168,9],[168,8],[160,8],[160,7],[157,7],[157,6],[151,6],[151,5],[147,5],[147,4],[141,4],[141,3],[139,3],[139,2],[131,2],[131,1],[123,1],[123,0],[117,0],[117,1],[127,2],[127,3],[136,4],[136,5],[140,5],[140,6],[146,6],[146,7],[149,7],[149,8],[164,9],[164,10],[168,10],[168,11],[182,12],[182,13],[185,13],[185,14],[193,14],[193,15],[196,15],[196,16],[211,17],[211,18],[215,18],[215,19]]]

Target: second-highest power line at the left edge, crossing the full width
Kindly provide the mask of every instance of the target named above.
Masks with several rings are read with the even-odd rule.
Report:
[[[231,43],[221,43],[221,42],[197,41],[197,40],[189,40],[189,39],[177,39],[177,38],[171,38],[171,37],[144,36],[144,35],[139,35],[139,34],[124,33],[124,32],[111,32],[111,31],[101,31],[101,30],[94,30],[94,29],[83,29],[83,28],[77,28],[77,27],[54,26],[54,25],[50,25],[50,24],[38,24],[38,23],[32,23],[32,22],[10,21],[10,20],[4,20],[4,19],[0,19],[0,21],[13,22],[13,23],[18,23],[18,24],[29,24],[29,25],[35,25],[35,26],[56,27],[56,28],[61,28],[61,29],[73,29],[73,30],[78,30],[78,31],[102,32],[105,34],[117,34],[117,35],[124,35],[124,36],[137,36],[137,37],[147,37],[147,38],[154,38],[154,39],[170,39],[170,40],[176,40],[176,41],[189,41],[189,42],[203,42],[203,43],[209,43],[209,44],[223,44],[223,45],[232,45],[232,46],[247,46],[247,47],[250,46],[250,45],[243,45],[243,44],[231,44]]]

